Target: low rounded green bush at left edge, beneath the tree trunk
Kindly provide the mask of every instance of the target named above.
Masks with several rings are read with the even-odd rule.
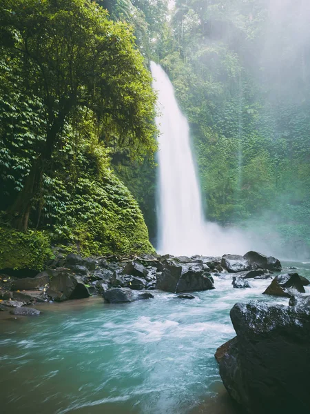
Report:
[[[52,257],[47,233],[36,230],[20,233],[0,227],[0,269],[40,271]]]

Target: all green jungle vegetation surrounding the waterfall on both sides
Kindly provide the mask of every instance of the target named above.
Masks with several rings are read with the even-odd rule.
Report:
[[[3,231],[85,255],[152,250],[153,59],[189,119],[207,219],[309,255],[310,13],[282,6],[1,0]]]

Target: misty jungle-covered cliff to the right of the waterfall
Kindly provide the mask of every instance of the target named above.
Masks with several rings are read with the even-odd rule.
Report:
[[[282,255],[309,257],[310,6],[116,3],[118,18],[131,13],[142,52],[174,83],[192,130],[207,219],[251,228]]]

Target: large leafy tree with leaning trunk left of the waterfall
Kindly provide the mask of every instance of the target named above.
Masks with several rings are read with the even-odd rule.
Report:
[[[28,220],[43,173],[70,117],[85,108],[101,127],[101,139],[154,150],[154,101],[149,72],[126,23],[114,23],[88,0],[3,0],[1,59],[22,68],[29,96],[43,101],[43,144],[12,206],[14,226]]]

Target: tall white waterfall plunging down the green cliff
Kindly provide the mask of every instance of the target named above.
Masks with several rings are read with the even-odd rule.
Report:
[[[172,255],[222,255],[247,251],[239,232],[223,231],[203,216],[200,188],[192,155],[189,125],[169,77],[152,62],[153,88],[158,93],[158,252]]]

